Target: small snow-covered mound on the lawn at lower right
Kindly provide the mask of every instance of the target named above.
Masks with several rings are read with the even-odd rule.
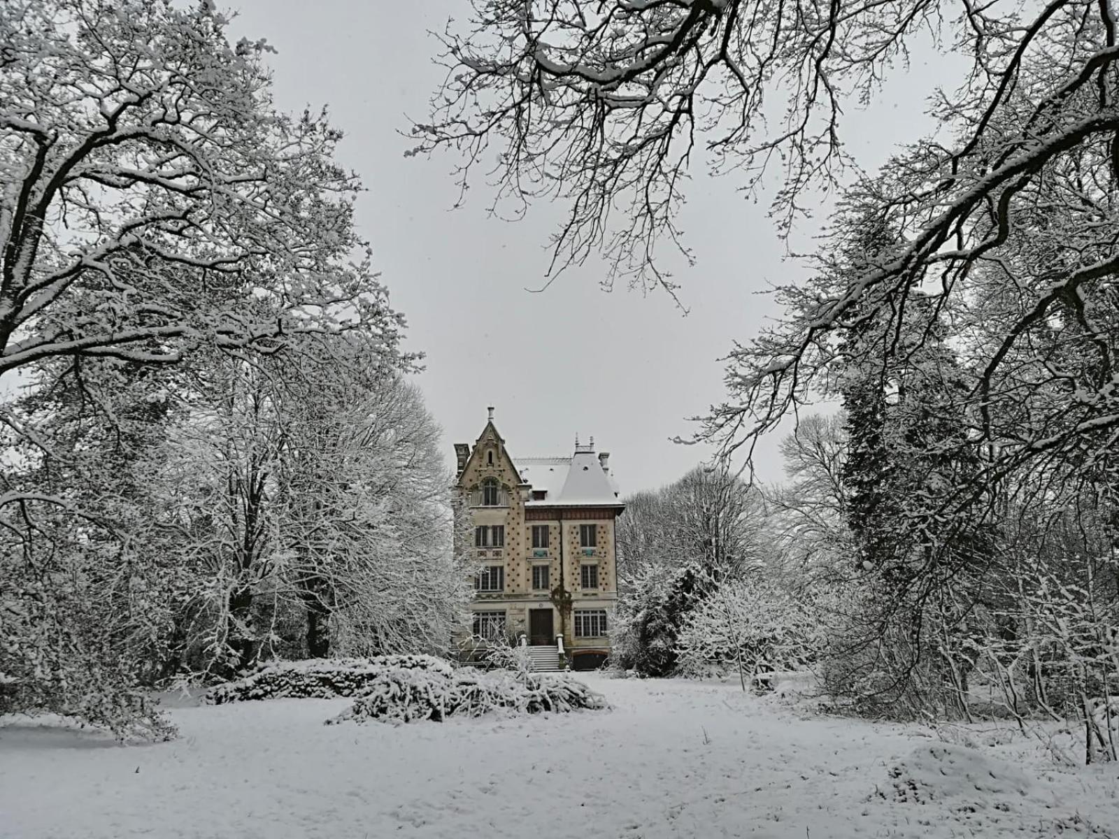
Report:
[[[911,804],[941,802],[955,810],[1007,810],[1028,796],[1033,782],[1021,771],[965,746],[932,743],[890,769],[890,790],[882,798]]]

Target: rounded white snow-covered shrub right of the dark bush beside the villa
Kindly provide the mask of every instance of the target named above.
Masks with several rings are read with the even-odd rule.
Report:
[[[726,583],[684,621],[678,672],[735,673],[749,685],[761,673],[805,670],[821,643],[814,615],[783,590],[763,581]]]

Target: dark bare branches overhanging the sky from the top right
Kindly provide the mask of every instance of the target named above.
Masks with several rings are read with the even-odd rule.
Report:
[[[901,336],[920,343],[947,321],[967,384],[952,408],[967,424],[957,440],[990,455],[970,488],[950,493],[957,501],[1025,461],[1098,460],[1119,442],[1119,45],[1109,3],[471,6],[471,21],[442,36],[448,76],[414,132],[421,150],[466,152],[464,183],[496,147],[488,175],[499,197],[565,202],[554,268],[602,253],[611,277],[671,291],[658,256],[666,242],[684,247],[677,211],[700,149],[746,189],[780,169],[783,229],[810,189],[843,180],[817,276],[781,289],[782,320],[734,347],[728,398],[702,436],[749,453],[788,413],[834,396],[844,369],[874,360],[844,340],[861,322],[883,336],[888,370],[914,348]],[[969,62],[930,101],[941,130],[848,179],[844,110],[899,73],[929,34]],[[893,242],[853,254],[867,224]]]

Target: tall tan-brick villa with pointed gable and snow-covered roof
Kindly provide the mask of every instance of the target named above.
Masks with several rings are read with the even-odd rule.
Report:
[[[576,437],[567,458],[513,458],[492,407],[473,449],[458,443],[454,453],[482,564],[472,634],[529,644],[540,670],[601,664],[618,598],[614,520],[624,509],[610,455],[595,453],[594,437]]]

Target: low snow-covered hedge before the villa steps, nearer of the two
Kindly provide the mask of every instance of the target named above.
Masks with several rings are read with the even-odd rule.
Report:
[[[495,710],[539,714],[605,707],[601,695],[567,676],[534,675],[518,679],[473,668],[451,673],[386,668],[366,685],[352,707],[327,722],[442,722],[451,716],[478,717]]]

